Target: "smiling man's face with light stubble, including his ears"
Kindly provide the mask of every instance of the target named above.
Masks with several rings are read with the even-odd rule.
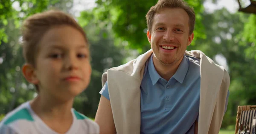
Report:
[[[189,35],[189,16],[182,8],[163,8],[155,14],[147,32],[154,58],[161,64],[175,64],[183,58],[194,33]]]

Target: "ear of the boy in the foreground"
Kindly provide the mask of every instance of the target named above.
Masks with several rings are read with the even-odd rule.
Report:
[[[22,67],[22,73],[29,83],[32,83],[32,84],[39,83],[39,80],[35,74],[35,68],[32,66],[32,64],[24,64]]]

